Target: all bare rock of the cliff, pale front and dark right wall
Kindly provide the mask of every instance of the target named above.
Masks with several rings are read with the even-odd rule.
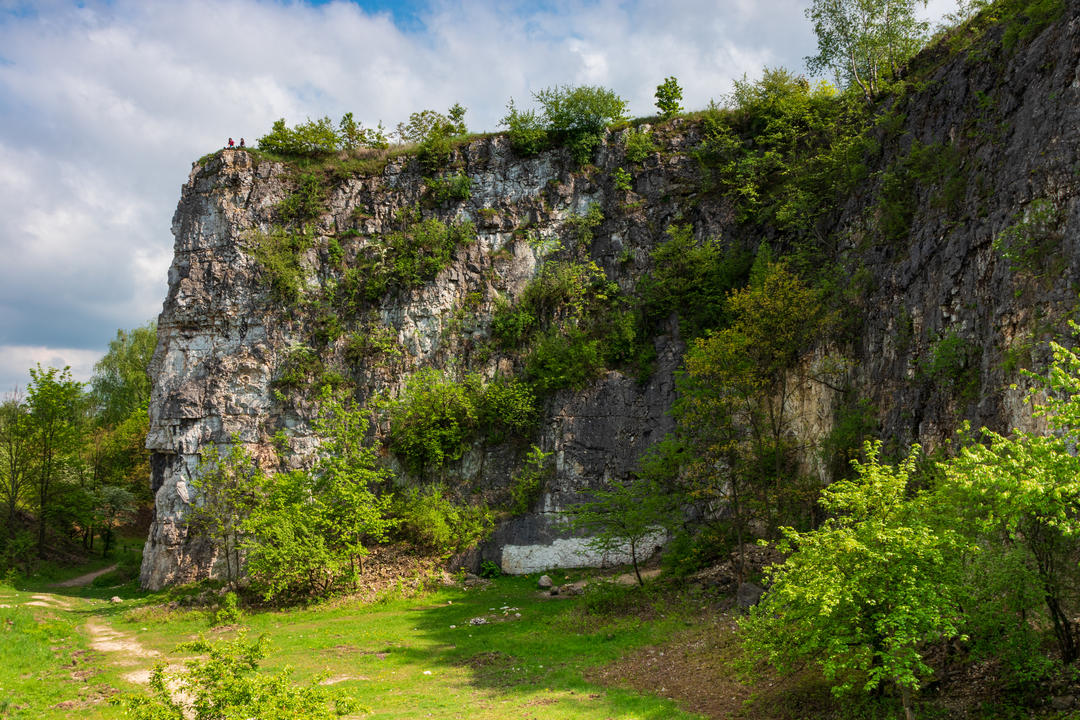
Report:
[[[841,344],[819,349],[818,357],[827,351],[848,362],[836,382],[807,385],[793,398],[796,432],[824,436],[841,388],[842,397],[868,400],[880,434],[897,444],[937,446],[962,419],[996,427],[1031,422],[1022,392],[1008,384],[1017,365],[1044,359],[1043,341],[1074,313],[1080,280],[1078,14],[1069,3],[1065,18],[1018,50],[995,46],[991,30],[980,53],[940,46],[916,60],[921,87],[892,103],[894,126],[873,131],[866,181],[819,228],[836,239],[845,282],[858,286],[852,301],[860,320]],[[470,180],[462,200],[432,202],[424,172],[409,157],[373,173],[330,176],[300,257],[301,298],[342,282],[335,254],[347,267],[397,227],[403,208],[475,226],[475,242],[458,247],[433,280],[390,291],[342,321],[351,324],[346,329],[388,331],[383,337],[400,356],[377,362],[349,359],[346,339],[325,332],[319,304],[284,302],[255,259],[254,239],[281,221],[281,203],[296,193],[299,174],[244,151],[197,163],[173,220],[175,258],[151,365],[147,447],[156,517],[144,585],[214,571],[212,547],[184,524],[195,500],[191,478],[210,444],[239,441],[267,467],[310,462],[318,446],[313,404],[302,388],[283,391],[278,382],[297,348],[314,347],[320,363],[340,369],[361,399],[392,395],[422,367],[492,377],[513,369],[512,358],[485,344],[497,298],[518,297],[545,260],[576,253],[633,293],[673,222],[691,223],[698,237],[750,247],[762,233],[770,236],[768,229],[737,222],[730,198],[702,191],[692,155],[701,131],[692,121],[653,128],[657,151],[634,167],[632,189],[620,189],[617,171],[631,166],[624,132],[609,134],[596,165],[586,168],[576,168],[562,151],[521,159],[505,138],[474,140],[450,161]],[[948,162],[919,174],[910,159],[926,148]],[[901,201],[908,230],[881,242],[877,226],[888,209],[881,199],[897,175],[906,184]],[[575,241],[575,218],[592,206],[603,221]],[[1036,215],[1047,221],[1036,223]],[[1000,241],[995,247],[1002,236],[1052,246],[1017,264]],[[510,572],[604,560],[580,555],[581,541],[559,524],[558,511],[629,474],[671,429],[667,411],[685,350],[674,318],[650,342],[657,361],[647,379],[610,370],[544,402],[530,441],[554,453],[554,477],[532,512],[497,530],[481,551],[485,558]],[[454,474],[504,487],[521,456],[519,444],[476,443]]]

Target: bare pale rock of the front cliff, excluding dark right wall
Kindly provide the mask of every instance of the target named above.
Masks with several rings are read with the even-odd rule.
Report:
[[[521,160],[496,138],[472,144],[458,160],[472,181],[469,200],[445,207],[419,206],[424,217],[472,220],[476,242],[461,247],[433,282],[403,295],[391,294],[373,311],[372,317],[391,331],[404,356],[394,364],[353,368],[361,398],[394,393],[408,372],[423,366],[464,365],[487,376],[497,368],[511,370],[508,358],[498,354],[481,363],[471,359],[473,348],[487,340],[495,299],[513,298],[522,290],[544,254],[567,237],[569,218],[584,214],[593,203],[611,201],[603,184],[570,172],[557,153]],[[308,286],[340,282],[334,274],[339,271],[325,264],[324,248],[330,240],[348,253],[378,241],[397,229],[394,217],[401,208],[422,200],[423,187],[418,165],[408,159],[395,161],[378,176],[333,184],[325,213],[312,223],[315,249],[303,260]],[[298,391],[288,391],[292,396],[283,400],[273,385],[289,351],[311,345],[316,318],[305,307],[283,307],[275,300],[248,252],[256,232],[268,232],[280,222],[275,208],[295,188],[287,167],[242,151],[222,151],[205,165],[193,166],[184,187],[173,219],[176,247],[168,296],[150,369],[147,448],[152,452],[156,514],[143,560],[146,587],[188,582],[219,570],[211,545],[185,524],[191,504],[198,502],[191,480],[204,448],[239,441],[268,470],[282,461],[271,441],[275,433],[287,438],[284,462],[289,467],[305,466],[318,448],[310,402],[298,397],[302,394]],[[612,277],[632,280],[640,269],[617,260],[625,239],[633,235],[646,245],[654,239],[654,233],[635,231],[632,226],[637,221],[612,219],[611,233],[597,232],[592,246],[581,249]],[[462,321],[467,301],[471,314]],[[500,548],[510,540],[524,547],[564,538],[565,527],[553,519],[563,505],[576,502],[589,487],[624,475],[637,453],[666,432],[671,423],[665,411],[674,392],[671,373],[680,345],[664,339],[658,349],[663,362],[646,385],[611,373],[586,393],[554,398],[535,441],[554,451],[563,470],[545,506],[500,528],[484,548],[485,557],[500,559]],[[328,367],[345,367],[342,340],[319,353]],[[465,481],[498,491],[516,467],[511,450],[478,445],[455,472]],[[582,556],[563,556],[572,566],[582,565]],[[593,558],[585,563],[603,561]]]

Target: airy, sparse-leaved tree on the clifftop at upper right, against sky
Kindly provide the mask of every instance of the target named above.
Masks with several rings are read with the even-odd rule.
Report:
[[[838,84],[858,84],[869,100],[880,80],[895,76],[926,40],[929,26],[915,15],[917,1],[813,0],[806,16],[818,36],[818,54],[807,58],[807,67],[833,70]]]

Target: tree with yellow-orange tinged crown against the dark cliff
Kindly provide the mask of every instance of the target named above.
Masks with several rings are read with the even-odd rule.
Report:
[[[809,504],[795,483],[791,399],[810,379],[795,371],[799,358],[832,323],[819,293],[769,261],[767,246],[751,276],[728,296],[731,324],[687,352],[675,408],[693,449],[691,491],[728,505],[740,546],[755,505],[772,527]]]

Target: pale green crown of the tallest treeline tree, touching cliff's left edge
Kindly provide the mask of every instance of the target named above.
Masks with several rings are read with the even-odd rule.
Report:
[[[152,321],[132,330],[117,330],[90,379],[98,422],[116,425],[149,402],[147,368],[157,344],[158,324]]]

